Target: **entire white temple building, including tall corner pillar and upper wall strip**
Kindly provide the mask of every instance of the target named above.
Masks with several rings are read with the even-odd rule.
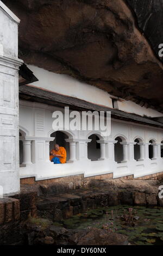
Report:
[[[18,102],[20,20],[1,1],[0,14],[0,188],[5,194],[19,191],[23,178],[39,181],[109,173],[113,178],[138,178],[163,171],[163,124],[143,117],[162,116],[153,109],[122,99],[113,102],[111,95],[97,87],[31,65],[28,68],[39,81],[20,87]],[[33,94],[26,92],[28,89],[33,89]],[[42,92],[48,94],[46,99]],[[65,97],[64,102],[58,102],[60,96]],[[114,114],[109,136],[100,129],[53,129],[53,112],[64,115],[64,106],[69,105],[71,111],[75,107],[80,113],[82,108],[110,109]],[[54,143],[66,148],[65,164],[49,161]]]

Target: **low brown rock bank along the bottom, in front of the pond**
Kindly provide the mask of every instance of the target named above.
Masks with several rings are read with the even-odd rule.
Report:
[[[128,245],[127,236],[98,228],[70,230],[49,225],[42,229],[30,222],[26,226],[29,245]]]

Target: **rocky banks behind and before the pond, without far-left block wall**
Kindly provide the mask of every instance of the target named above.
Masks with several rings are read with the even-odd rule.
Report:
[[[39,218],[29,218],[26,222],[27,241],[29,245],[127,245],[127,236],[108,230],[72,230],[55,223],[98,206],[163,205],[158,198],[160,184],[157,180],[116,179],[108,182],[92,180],[89,187],[78,190],[68,190],[59,184],[22,186],[23,191],[34,190],[39,194]]]

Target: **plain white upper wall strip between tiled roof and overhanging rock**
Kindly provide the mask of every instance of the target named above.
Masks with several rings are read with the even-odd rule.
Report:
[[[55,93],[77,97],[78,99],[86,100],[97,105],[112,108],[111,95],[102,89],[79,82],[68,75],[55,74],[33,65],[28,65],[28,67],[39,79],[39,81],[32,83],[32,86],[48,89]],[[135,113],[142,116],[146,115],[147,117],[163,116],[162,113],[155,111],[154,109],[141,107],[132,101],[121,100],[117,101],[116,105],[118,106],[118,109],[129,113]]]

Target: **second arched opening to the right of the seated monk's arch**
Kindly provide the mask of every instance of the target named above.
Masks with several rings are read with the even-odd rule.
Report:
[[[127,144],[126,145],[122,144],[122,142],[125,142],[126,140],[123,139],[122,137],[116,137],[115,141],[117,141],[117,143],[115,143],[115,148],[114,148],[115,161],[117,163],[126,162],[127,161]]]

